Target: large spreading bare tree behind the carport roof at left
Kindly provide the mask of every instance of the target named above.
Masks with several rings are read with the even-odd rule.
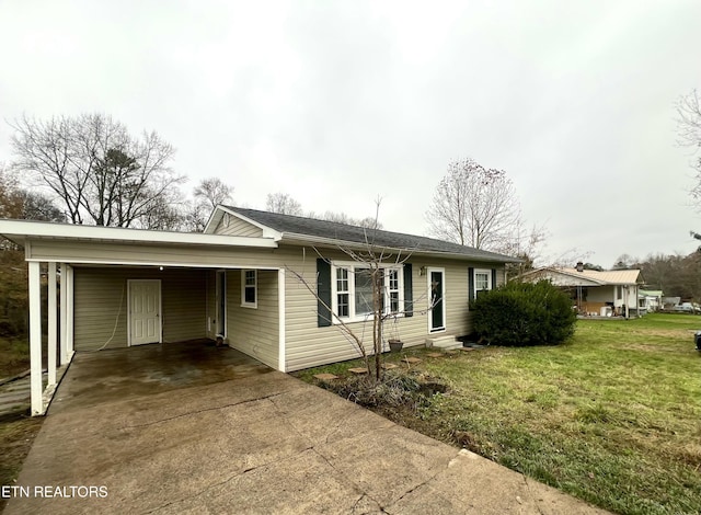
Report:
[[[72,224],[151,228],[163,204],[179,198],[185,178],[171,170],[174,149],[154,131],[135,138],[102,114],[10,125],[13,169],[51,194]]]

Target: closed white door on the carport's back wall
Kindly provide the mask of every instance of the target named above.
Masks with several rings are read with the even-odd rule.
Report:
[[[161,282],[129,281],[129,345],[161,342]]]

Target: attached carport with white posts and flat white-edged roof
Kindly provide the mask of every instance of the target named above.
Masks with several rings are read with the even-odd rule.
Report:
[[[238,237],[0,220],[0,234],[24,247],[28,265],[32,414],[39,415],[78,351],[228,337],[285,371],[285,271],[261,265],[272,236]],[[228,302],[232,286],[255,278],[255,310]],[[48,301],[42,306],[43,283]],[[243,287],[242,287],[243,290]],[[229,291],[229,294],[227,294]],[[164,298],[164,294],[168,295]],[[42,310],[47,309],[47,328]],[[170,309],[170,311],[169,311]],[[246,328],[265,323],[264,342]],[[42,334],[47,334],[48,379],[42,381]],[[252,334],[253,330],[249,331]],[[253,337],[253,336],[252,336]]]

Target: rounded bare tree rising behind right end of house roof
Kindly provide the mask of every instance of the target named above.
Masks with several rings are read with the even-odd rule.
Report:
[[[466,159],[448,165],[426,219],[433,236],[475,249],[499,250],[513,240],[520,208],[506,172]]]

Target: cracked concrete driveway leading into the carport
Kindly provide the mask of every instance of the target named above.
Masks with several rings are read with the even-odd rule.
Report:
[[[76,357],[5,513],[605,512],[237,351],[169,344]]]

